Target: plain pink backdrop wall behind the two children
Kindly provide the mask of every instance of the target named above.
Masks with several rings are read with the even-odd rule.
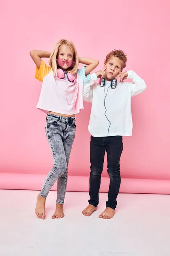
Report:
[[[36,109],[41,82],[34,79],[29,51],[52,51],[66,38],[79,56],[99,59],[98,70],[111,50],[127,53],[126,70],[136,71],[147,90],[132,99],[133,136],[123,139],[122,177],[170,180],[170,2],[95,2],[0,3],[0,172],[45,175],[51,169],[45,113]],[[89,175],[90,109],[85,103],[77,115],[69,175]]]

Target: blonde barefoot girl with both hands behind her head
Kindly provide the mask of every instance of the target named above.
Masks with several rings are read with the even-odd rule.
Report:
[[[83,82],[88,82],[90,72],[99,61],[79,58],[74,44],[68,40],[59,40],[52,53],[31,50],[30,55],[37,66],[35,78],[42,81],[37,108],[48,113],[45,131],[54,160],[37,196],[35,213],[45,219],[45,200],[58,179],[57,204],[52,218],[62,218],[68,160],[75,137],[75,114],[83,109]],[[41,59],[44,57],[49,58],[50,67]],[[87,66],[78,70],[79,62]]]

